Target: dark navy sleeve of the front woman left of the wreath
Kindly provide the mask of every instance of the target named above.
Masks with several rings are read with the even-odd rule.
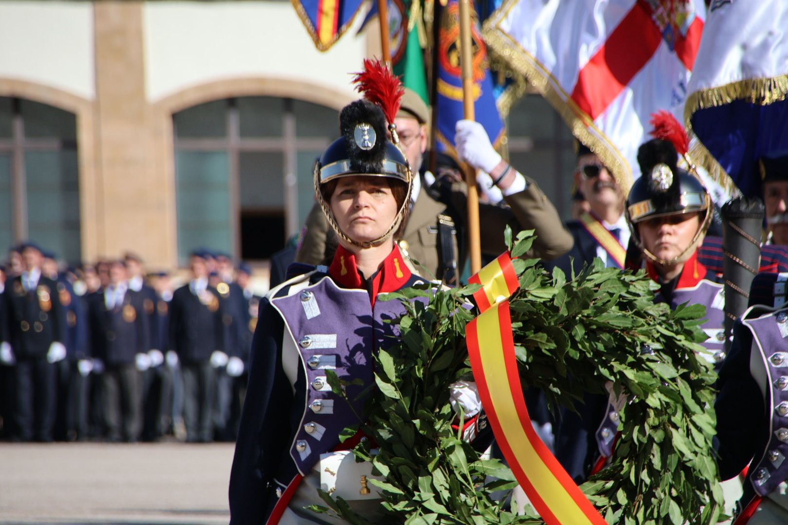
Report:
[[[252,341],[249,384],[230,471],[230,523],[265,523],[277,464],[286,454],[292,388],[282,368],[284,322],[268,301]]]

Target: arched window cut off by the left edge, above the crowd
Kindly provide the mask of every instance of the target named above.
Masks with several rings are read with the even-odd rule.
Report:
[[[76,116],[0,97],[0,250],[26,239],[80,261]]]

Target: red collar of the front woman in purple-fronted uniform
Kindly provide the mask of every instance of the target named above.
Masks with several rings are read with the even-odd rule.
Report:
[[[400,290],[408,279],[411,279],[411,270],[407,268],[402,253],[395,244],[394,250],[381,264],[381,269],[372,276],[372,289],[370,290],[368,281],[365,282],[359,274],[359,268],[355,264],[355,255],[342,246],[338,246],[336,253],[334,253],[334,260],[329,266],[329,275],[340,287],[369,291],[374,304],[377,294]]]

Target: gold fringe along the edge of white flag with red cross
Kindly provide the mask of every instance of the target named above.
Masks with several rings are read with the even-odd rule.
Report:
[[[566,92],[561,89],[558,81],[541,65],[532,54],[511,39],[498,27],[500,20],[516,5],[519,0],[507,0],[503,6],[485,22],[482,35],[487,46],[496,51],[515,72],[524,76],[534,89],[552,105],[564,122],[569,126],[572,135],[596,153],[600,160],[611,170],[619,187],[625,195],[632,187],[632,168],[623,154],[593,124],[591,117],[578,108]]]

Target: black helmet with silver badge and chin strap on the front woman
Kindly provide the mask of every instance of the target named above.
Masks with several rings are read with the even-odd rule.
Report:
[[[412,188],[411,166],[400,147],[388,140],[389,126],[383,110],[373,102],[357,100],[340,112],[340,131],[314,165],[314,190],[323,213],[336,234],[356,246],[377,246],[392,235],[403,221],[408,209]],[[407,185],[407,195],[388,231],[370,242],[358,242],[345,235],[334,220],[320,187],[333,179],[348,176],[380,176],[399,180]]]

